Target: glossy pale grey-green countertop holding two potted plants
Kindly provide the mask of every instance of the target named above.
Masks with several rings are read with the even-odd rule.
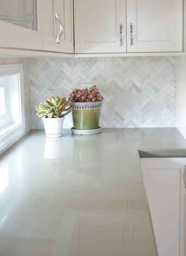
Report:
[[[184,149],[176,128],[31,130],[0,158],[0,256],[157,256],[138,149]]]

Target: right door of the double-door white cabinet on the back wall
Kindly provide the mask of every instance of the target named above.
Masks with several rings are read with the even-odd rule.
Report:
[[[181,52],[182,9],[182,0],[127,0],[127,52]]]

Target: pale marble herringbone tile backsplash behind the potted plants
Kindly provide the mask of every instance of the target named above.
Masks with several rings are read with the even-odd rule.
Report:
[[[104,97],[102,127],[175,127],[175,64],[172,56],[29,59],[32,128],[43,128],[35,105],[51,94],[68,97],[81,83]],[[72,126],[70,114],[64,128]]]

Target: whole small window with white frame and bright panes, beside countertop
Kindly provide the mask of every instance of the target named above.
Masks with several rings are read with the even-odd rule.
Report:
[[[0,152],[24,132],[22,64],[0,65]]]

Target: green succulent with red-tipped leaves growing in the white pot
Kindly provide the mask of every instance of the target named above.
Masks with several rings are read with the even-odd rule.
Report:
[[[39,106],[35,106],[38,111],[36,115],[46,118],[60,118],[66,116],[72,109],[70,103],[70,100],[66,101],[66,97],[60,98],[59,96],[51,96],[45,103],[41,102]]]

